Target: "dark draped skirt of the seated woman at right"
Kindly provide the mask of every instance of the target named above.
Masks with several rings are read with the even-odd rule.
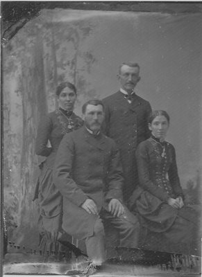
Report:
[[[192,206],[172,208],[144,191],[136,201],[135,212],[142,228],[140,247],[201,256],[199,213]]]

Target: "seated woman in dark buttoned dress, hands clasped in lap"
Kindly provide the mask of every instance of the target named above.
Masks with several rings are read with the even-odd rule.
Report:
[[[136,151],[140,186],[131,201],[140,216],[142,247],[155,251],[199,255],[196,240],[196,211],[185,206],[176,166],[176,152],[165,141],[169,129],[166,111],[153,111],[149,117],[151,137]]]

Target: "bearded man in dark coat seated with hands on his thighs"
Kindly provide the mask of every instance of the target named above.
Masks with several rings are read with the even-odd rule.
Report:
[[[137,247],[140,225],[122,204],[122,168],[115,142],[101,133],[101,100],[83,105],[84,126],[66,134],[53,170],[63,196],[62,229],[85,240],[92,267],[106,260],[102,220],[119,231],[121,247]]]

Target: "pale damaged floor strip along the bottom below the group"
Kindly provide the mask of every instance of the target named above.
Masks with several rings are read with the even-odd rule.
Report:
[[[139,257],[141,256],[140,254],[142,255],[142,252],[139,251]],[[3,276],[69,276],[67,270],[82,270],[85,269],[88,263],[83,256],[76,259],[74,255],[68,262],[51,262],[50,260],[51,256],[47,262],[44,262],[44,258],[40,253],[30,253],[10,247],[3,259]],[[125,251],[125,253],[122,252],[120,254],[119,258],[108,260],[103,269],[91,276],[201,276],[201,257],[190,256],[186,257],[186,259],[183,257],[181,262],[179,261],[178,257],[174,257],[173,266],[171,266],[171,262],[160,263],[159,261],[153,262],[153,265],[152,262],[146,265],[145,262],[138,262],[137,252]]]

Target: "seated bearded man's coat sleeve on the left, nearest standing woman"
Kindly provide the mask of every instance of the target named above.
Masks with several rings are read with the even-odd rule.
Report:
[[[58,148],[56,161],[53,168],[53,182],[56,184],[63,197],[69,199],[77,206],[81,206],[88,198],[76,182],[71,178],[74,161],[74,141],[71,134],[66,134]]]

